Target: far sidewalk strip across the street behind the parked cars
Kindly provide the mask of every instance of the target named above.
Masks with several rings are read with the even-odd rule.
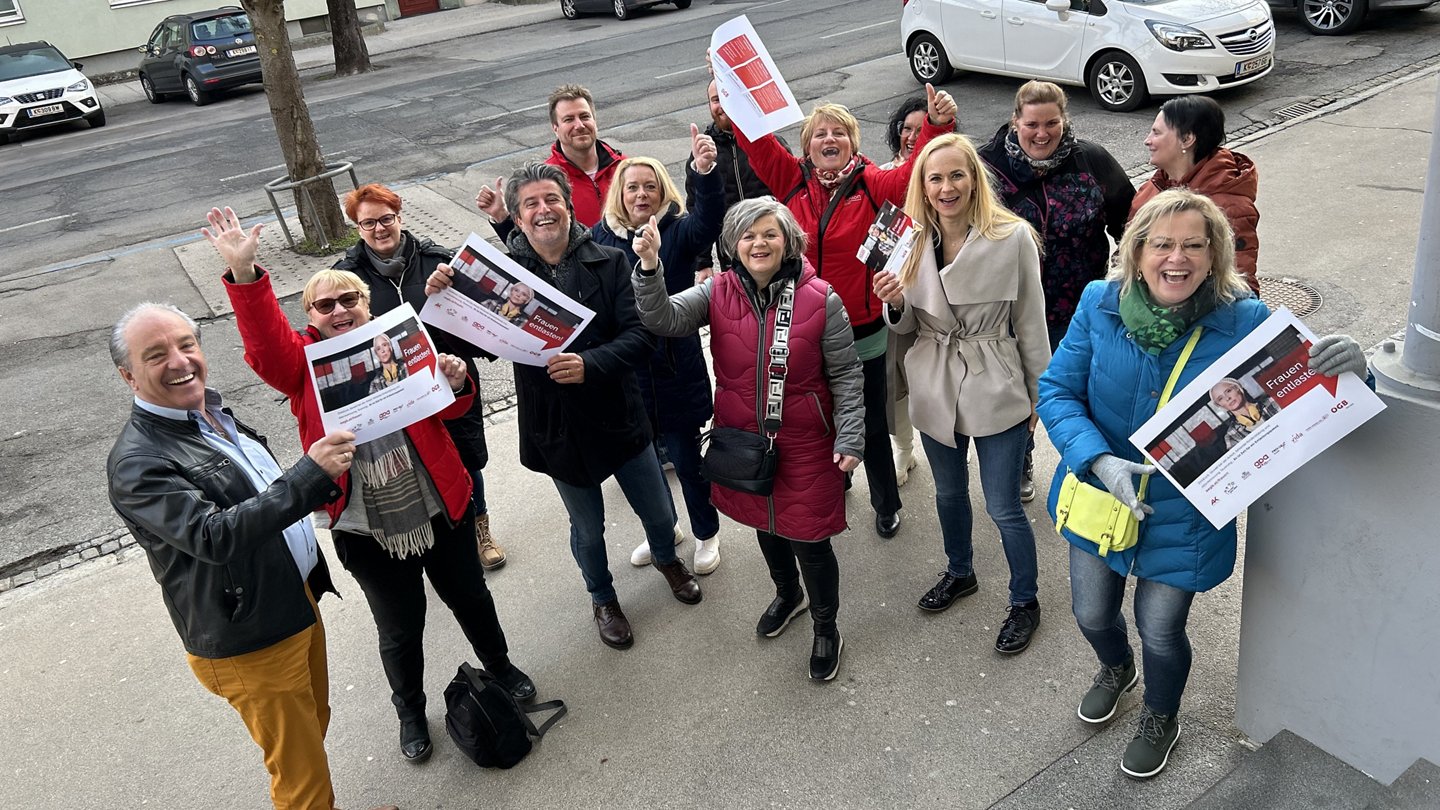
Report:
[[[379,32],[370,33],[367,29],[364,42],[370,56],[379,56],[552,19],[563,17],[560,16],[560,4],[550,0],[520,0],[518,3],[481,0],[474,6],[389,20]],[[320,37],[312,43],[292,40],[292,45],[300,45],[295,49],[295,66],[300,68],[302,76],[336,66],[336,53],[328,39]],[[102,107],[145,101],[145,92],[140,89],[138,78],[98,85],[95,89]]]

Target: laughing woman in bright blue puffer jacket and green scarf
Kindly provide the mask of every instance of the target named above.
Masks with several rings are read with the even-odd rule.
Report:
[[[1104,281],[1084,288],[1070,330],[1040,378],[1040,418],[1060,450],[1050,486],[1050,515],[1061,481],[1073,471],[1103,487],[1138,519],[1139,542],[1100,556],[1094,542],[1064,530],[1070,542],[1070,598],[1080,633],[1100,672],[1080,699],[1081,721],[1115,716],[1120,696],[1145,676],[1135,739],[1120,760],[1130,777],[1165,768],[1179,738],[1179,703],[1189,676],[1185,624],[1195,594],[1230,578],[1236,522],[1215,529],[1130,444],[1153,414],[1159,392],[1181,366],[1174,391],[1204,373],[1269,316],[1236,271],[1234,233],[1210,197],[1182,189],[1140,206],[1120,239],[1120,262]],[[1189,357],[1181,355],[1194,340]],[[1365,355],[1342,334],[1310,350],[1322,375],[1367,373]],[[1151,476],[1145,500],[1136,476]],[[1135,626],[1143,667],[1136,667],[1120,613],[1135,578]]]

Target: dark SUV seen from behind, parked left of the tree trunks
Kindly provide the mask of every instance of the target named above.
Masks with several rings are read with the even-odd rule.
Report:
[[[140,86],[151,104],[183,92],[204,107],[217,91],[261,81],[251,19],[236,6],[166,17],[140,52]]]

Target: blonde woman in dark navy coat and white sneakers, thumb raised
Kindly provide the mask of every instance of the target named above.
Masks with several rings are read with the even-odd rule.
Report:
[[[605,212],[590,231],[596,244],[625,251],[634,267],[639,261],[631,246],[634,233],[654,218],[662,238],[665,290],[671,295],[694,287],[696,258],[710,249],[724,222],[724,184],[714,172],[714,141],[691,124],[690,143],[694,160],[687,172],[696,192],[694,210],[685,212],[684,197],[664,164],[652,157],[628,157],[616,167],[615,182],[605,196]],[[700,428],[713,414],[700,336],[660,337],[649,363],[635,369],[635,375],[655,437],[680,479],[690,530],[696,536],[694,571],[710,574],[720,565],[720,515],[710,503],[710,481],[700,474]],[[683,536],[677,530],[675,542]],[[648,542],[635,546],[631,562],[649,565]]]

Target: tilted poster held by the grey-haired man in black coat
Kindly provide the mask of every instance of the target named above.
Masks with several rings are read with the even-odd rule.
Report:
[[[543,366],[595,311],[471,233],[451,261],[455,285],[431,295],[420,320],[497,357]]]

